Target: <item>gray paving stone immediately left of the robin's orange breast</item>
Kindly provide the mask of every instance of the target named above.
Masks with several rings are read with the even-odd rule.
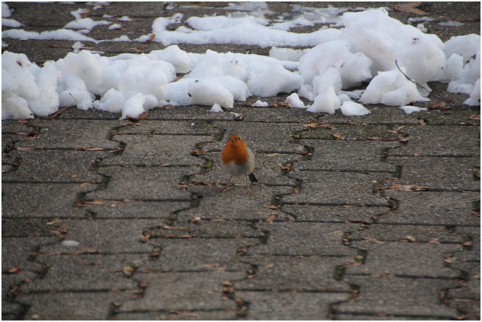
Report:
[[[104,159],[100,166],[202,166],[205,160],[191,155],[210,136],[193,135],[116,135],[114,140],[127,144],[121,155]]]

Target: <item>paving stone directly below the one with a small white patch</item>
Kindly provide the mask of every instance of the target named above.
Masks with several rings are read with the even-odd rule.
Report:
[[[137,282],[122,272],[126,266],[139,265],[149,259],[143,255],[39,255],[36,262],[49,265],[40,280],[23,284],[19,291],[93,292],[136,290]]]

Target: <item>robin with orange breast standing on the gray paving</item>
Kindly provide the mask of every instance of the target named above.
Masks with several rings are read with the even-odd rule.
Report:
[[[254,176],[254,153],[246,142],[244,142],[241,133],[231,132],[229,133],[228,142],[221,151],[221,169],[224,173],[230,174],[228,183],[222,191],[228,189],[229,181],[232,177],[246,176],[246,185],[248,186],[247,195],[252,195],[249,191],[249,181],[257,182],[258,180]]]

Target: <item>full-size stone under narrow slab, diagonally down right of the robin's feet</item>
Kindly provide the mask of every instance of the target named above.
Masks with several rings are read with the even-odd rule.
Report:
[[[360,224],[276,222],[258,223],[269,231],[268,242],[248,250],[247,255],[350,256],[355,249],[342,244],[344,232],[360,229]]]

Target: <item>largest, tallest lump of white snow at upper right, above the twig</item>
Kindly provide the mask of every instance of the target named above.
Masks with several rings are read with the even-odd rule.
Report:
[[[340,39],[350,39],[354,51],[373,60],[372,75],[397,68],[397,60],[400,67],[406,68],[408,77],[429,89],[427,82],[442,70],[442,40],[389,17],[385,9],[343,13],[342,21],[346,27]]]

